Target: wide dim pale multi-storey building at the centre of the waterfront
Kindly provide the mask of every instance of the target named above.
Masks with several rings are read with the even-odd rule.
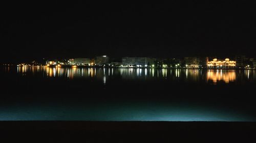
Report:
[[[154,58],[122,58],[122,65],[147,67],[153,65],[155,61]]]

